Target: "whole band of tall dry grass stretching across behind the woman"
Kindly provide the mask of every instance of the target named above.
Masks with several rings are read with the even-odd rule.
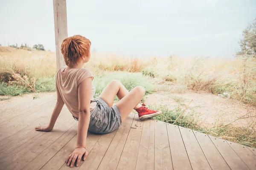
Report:
[[[100,76],[105,71],[142,72],[154,81],[156,90],[181,92],[191,89],[212,94],[227,92],[233,99],[256,105],[255,58],[171,56],[145,59],[92,53],[90,61],[84,67],[89,68],[95,76]],[[32,83],[30,79],[35,78],[34,84],[38,91],[52,91],[54,87],[49,79],[56,73],[55,54],[49,51],[26,50],[0,52],[0,74],[3,72],[26,76],[28,84]]]

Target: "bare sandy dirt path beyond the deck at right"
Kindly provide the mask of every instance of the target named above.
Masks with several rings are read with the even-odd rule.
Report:
[[[221,123],[227,124],[249,112],[247,118],[239,119],[233,124],[241,127],[256,122],[256,107],[245,105],[241,102],[239,103],[239,101],[233,99],[218,97],[213,94],[194,93],[192,91],[187,91],[184,94],[157,92],[147,95],[145,102],[148,105],[154,106],[166,105],[169,109],[175,109],[177,106],[185,109],[192,99],[193,101],[190,103],[185,113],[200,115],[200,122],[204,126],[213,127]]]

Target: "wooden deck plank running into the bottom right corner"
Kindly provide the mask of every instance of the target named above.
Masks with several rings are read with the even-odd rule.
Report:
[[[244,145],[226,141],[251,170],[256,170],[256,156]]]

